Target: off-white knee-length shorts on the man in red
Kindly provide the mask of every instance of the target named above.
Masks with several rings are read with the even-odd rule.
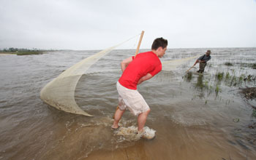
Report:
[[[121,111],[128,108],[132,114],[138,116],[140,113],[146,112],[150,109],[138,90],[127,89],[119,84],[118,81],[116,83],[116,89],[118,91],[118,107]]]

